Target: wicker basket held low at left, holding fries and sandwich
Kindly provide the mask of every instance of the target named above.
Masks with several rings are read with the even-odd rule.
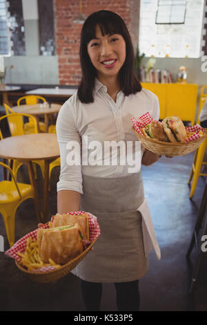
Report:
[[[75,259],[72,259],[71,261],[69,261],[68,263],[64,264],[63,266],[61,266],[60,268],[58,268],[56,270],[52,270],[52,271],[48,271],[48,272],[37,272],[37,271],[32,272],[32,271],[26,270],[26,268],[21,266],[21,264],[19,264],[19,262],[17,260],[15,260],[15,263],[17,265],[17,268],[19,268],[19,270],[21,270],[21,272],[26,273],[28,275],[28,277],[34,282],[46,284],[46,283],[50,283],[53,281],[57,281],[57,280],[61,279],[61,277],[68,275],[68,273],[72,269],[74,269],[77,266],[77,264],[84,257],[86,257],[86,254],[88,254],[88,252],[91,250],[92,246],[95,244],[97,239],[98,239],[98,237],[94,241],[92,241],[92,243],[90,243],[90,245],[88,245],[86,250],[83,250],[83,252],[79,256],[75,257]]]

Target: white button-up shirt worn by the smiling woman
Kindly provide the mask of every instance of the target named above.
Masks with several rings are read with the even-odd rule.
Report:
[[[124,95],[117,93],[116,102],[107,93],[107,88],[99,80],[95,80],[94,102],[81,103],[77,93],[72,95],[61,106],[57,118],[57,139],[61,157],[61,173],[57,183],[57,192],[61,189],[70,189],[83,194],[82,174],[97,177],[122,177],[128,175],[128,164],[125,165],[68,165],[68,142],[83,145],[97,140],[103,147],[106,141],[138,141],[132,131],[131,118],[139,118],[149,112],[153,119],[159,119],[159,100],[157,96],[142,89],[136,94]],[[87,136],[87,137],[86,137]],[[72,142],[73,141],[73,142]],[[84,142],[85,143],[85,142]],[[70,149],[72,149],[70,147]],[[91,148],[90,148],[91,149]],[[83,160],[80,160],[81,162]]]

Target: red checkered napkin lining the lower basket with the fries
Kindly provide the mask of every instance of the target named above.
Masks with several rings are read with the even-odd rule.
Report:
[[[101,234],[99,224],[97,223],[97,217],[93,216],[92,214],[84,211],[77,211],[77,212],[68,212],[68,214],[75,214],[75,215],[83,215],[88,214],[88,223],[89,223],[89,230],[90,230],[90,241],[88,241],[87,244],[92,243],[99,234]],[[54,219],[54,216],[52,216],[51,221]],[[47,229],[50,228],[50,224],[45,223],[41,225],[41,228]],[[12,257],[13,259],[17,259],[17,261],[21,264],[21,257],[17,254],[17,252],[23,252],[26,250],[26,244],[28,238],[36,239],[37,240],[37,229],[33,230],[32,232],[29,232],[25,236],[23,236],[17,243],[14,243],[14,245],[7,250],[4,254],[6,254],[8,257]],[[22,265],[22,264],[21,264]],[[43,268],[39,268],[36,270],[32,270],[32,272],[48,272],[50,270],[57,270],[53,268],[53,266],[43,266]]]

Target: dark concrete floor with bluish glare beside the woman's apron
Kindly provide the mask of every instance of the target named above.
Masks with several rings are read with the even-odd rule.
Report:
[[[207,310],[206,270],[204,261],[193,295],[189,295],[192,268],[197,252],[193,250],[191,263],[186,251],[195,225],[206,180],[199,178],[193,199],[189,199],[188,177],[193,154],[168,159],[142,167],[146,198],[150,205],[155,232],[161,248],[161,260],[150,252],[149,270],[140,280],[141,310]],[[42,197],[43,180],[37,167],[39,197]],[[50,181],[50,214],[57,211],[56,183],[59,167],[52,171]],[[19,181],[28,181],[27,169],[21,167]],[[1,178],[2,179],[2,172]],[[32,199],[21,204],[16,216],[16,240],[37,228]],[[3,220],[0,216],[0,234],[9,248]],[[14,260],[0,252],[0,310],[70,310],[83,311],[79,279],[72,274],[53,284],[36,284],[23,275]],[[117,310],[115,288],[103,285],[101,310]]]

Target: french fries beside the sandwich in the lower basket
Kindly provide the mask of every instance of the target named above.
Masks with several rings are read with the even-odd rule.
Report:
[[[23,266],[26,266],[28,271],[37,270],[43,266],[53,266],[54,268],[60,267],[60,265],[56,264],[55,261],[52,261],[52,259],[49,259],[50,263],[44,263],[41,260],[37,240],[32,238],[28,238],[25,252],[23,254],[21,252],[17,252],[17,254],[19,257],[21,257],[21,263]]]

